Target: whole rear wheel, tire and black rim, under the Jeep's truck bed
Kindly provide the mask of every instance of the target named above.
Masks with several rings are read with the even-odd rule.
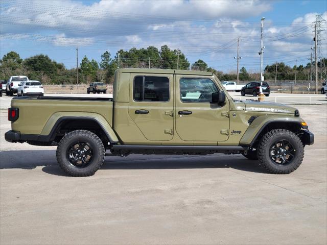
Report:
[[[57,161],[68,175],[92,176],[101,168],[104,154],[104,145],[96,134],[87,130],[75,130],[60,140]]]

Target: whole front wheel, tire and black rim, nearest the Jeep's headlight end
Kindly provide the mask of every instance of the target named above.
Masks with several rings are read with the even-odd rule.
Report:
[[[269,131],[258,146],[258,159],[272,174],[292,173],[302,163],[303,156],[301,139],[286,129]]]

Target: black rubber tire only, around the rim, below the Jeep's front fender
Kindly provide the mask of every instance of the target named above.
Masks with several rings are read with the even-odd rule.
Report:
[[[270,148],[278,140],[289,141],[295,149],[295,156],[288,164],[277,164],[270,159]],[[304,146],[301,139],[286,129],[274,129],[266,133],[258,145],[258,159],[260,163],[272,174],[290,174],[302,163]]]

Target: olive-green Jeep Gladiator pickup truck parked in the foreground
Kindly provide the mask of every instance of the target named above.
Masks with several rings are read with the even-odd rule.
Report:
[[[211,72],[118,69],[113,99],[14,97],[9,142],[58,145],[72,176],[93,175],[110,155],[243,154],[273,174],[302,162],[314,135],[297,109],[238,101]]]

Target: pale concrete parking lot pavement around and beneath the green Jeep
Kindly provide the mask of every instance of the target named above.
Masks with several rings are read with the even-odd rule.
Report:
[[[292,174],[267,174],[242,155],[130,155],[106,157],[85,178],[64,174],[54,146],[6,142],[3,96],[0,243],[326,244],[326,99],[286,95],[265,99],[294,105],[315,134]]]

